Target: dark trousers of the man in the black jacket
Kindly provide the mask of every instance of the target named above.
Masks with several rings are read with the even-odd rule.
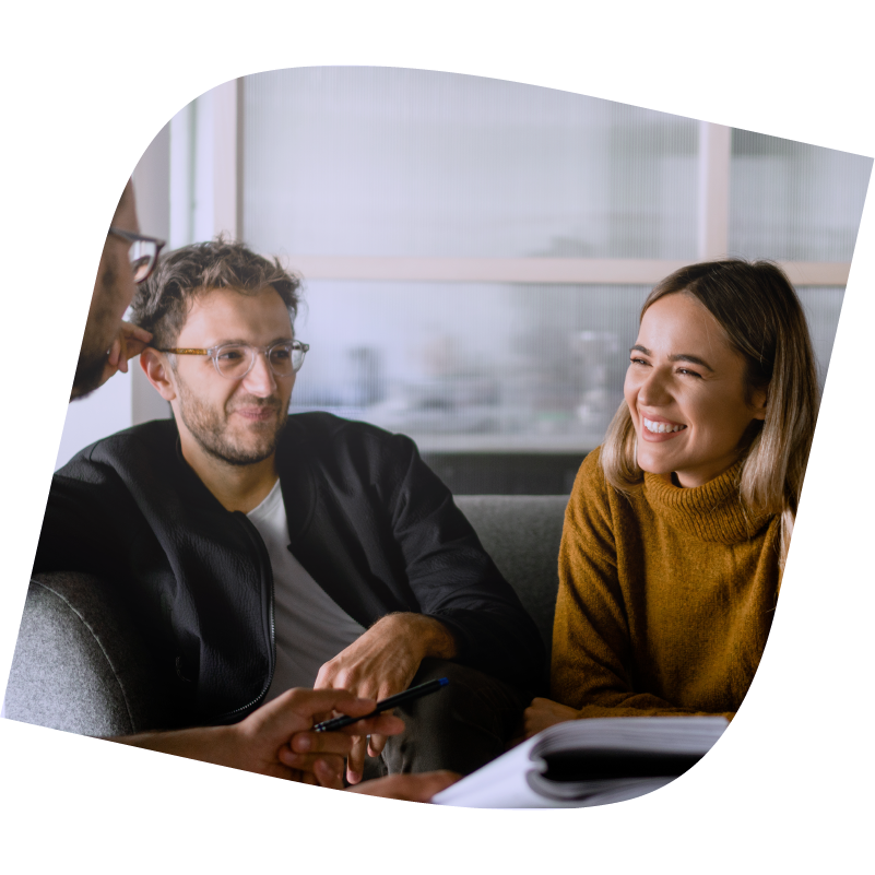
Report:
[[[389,738],[380,760],[367,758],[365,778],[434,769],[470,775],[521,734],[531,694],[476,669],[434,659],[423,660],[411,686],[437,677],[450,683],[394,710],[404,732]]]

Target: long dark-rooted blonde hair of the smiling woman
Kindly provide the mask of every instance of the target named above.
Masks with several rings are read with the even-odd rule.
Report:
[[[648,295],[639,320],[652,304],[677,293],[695,297],[745,359],[748,398],[767,390],[766,418],[755,419],[745,433],[738,490],[752,510],[780,515],[783,572],[817,422],[817,370],[802,305],[776,264],[728,259],[666,276]],[[601,463],[607,482],[620,492],[643,481],[625,400],[607,427]]]

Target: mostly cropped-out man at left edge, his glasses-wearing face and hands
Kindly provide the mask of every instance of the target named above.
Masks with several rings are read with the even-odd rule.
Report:
[[[141,235],[130,180],[119,199],[104,241],[91,305],[73,376],[70,399],[87,397],[145,348],[150,332],[122,321],[134,294],[157,260],[164,243]],[[403,723],[391,716],[359,722],[344,733],[314,733],[314,723],[332,714],[369,713],[374,699],[359,699],[343,690],[289,689],[247,718],[229,726],[194,726],[146,732],[106,741],[175,756],[339,789],[343,785],[344,757],[352,734],[395,735]],[[449,771],[392,775],[366,781],[354,789],[371,796],[427,802],[458,779]]]

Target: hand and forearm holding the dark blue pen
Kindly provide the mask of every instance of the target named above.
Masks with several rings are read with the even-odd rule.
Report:
[[[345,690],[289,689],[230,726],[151,732],[109,741],[343,790],[343,759],[352,748],[353,735],[398,735],[404,731],[403,721],[378,714],[339,732],[308,730],[332,711],[359,717],[370,713],[376,703]]]

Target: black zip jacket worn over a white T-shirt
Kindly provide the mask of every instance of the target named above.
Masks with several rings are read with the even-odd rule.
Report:
[[[288,548],[367,627],[412,611],[454,635],[458,661],[539,693],[545,654],[510,584],[447,487],[402,435],[323,413],[289,416],[276,451]],[[51,481],[34,571],[122,588],[180,723],[241,719],[274,669],[273,575],[245,513],[186,463],[173,421],[78,453]]]

